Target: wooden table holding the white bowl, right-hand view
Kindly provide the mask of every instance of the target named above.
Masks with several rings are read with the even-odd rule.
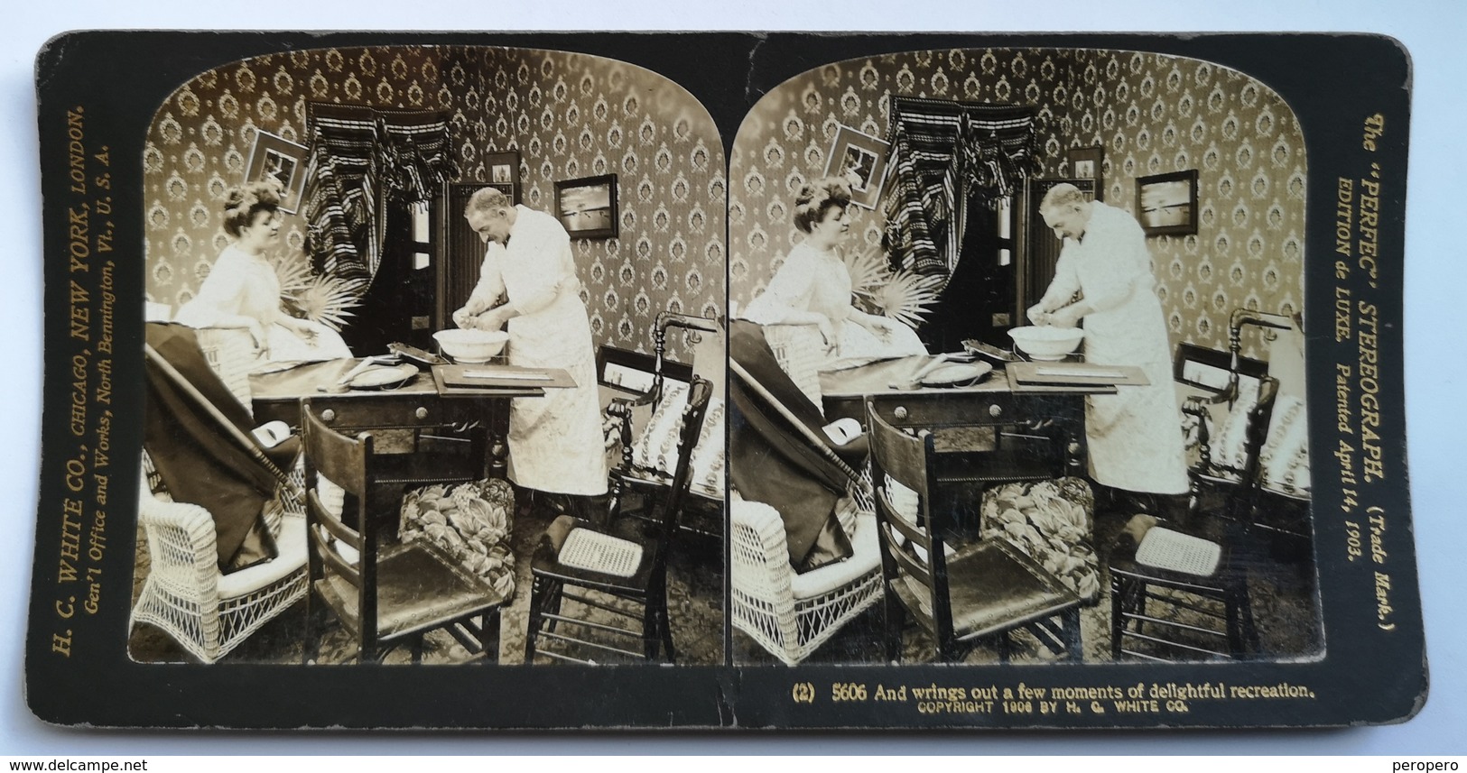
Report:
[[[1012,481],[1086,474],[1086,395],[1115,386],[1011,384],[1002,368],[976,386],[901,389],[930,356],[820,375],[829,421],[867,425],[866,403],[893,427],[932,430],[948,481]]]

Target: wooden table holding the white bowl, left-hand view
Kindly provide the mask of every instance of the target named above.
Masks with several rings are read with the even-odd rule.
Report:
[[[311,411],[339,431],[373,431],[383,453],[417,456],[405,464],[405,477],[414,483],[439,483],[505,477],[509,406],[513,399],[543,398],[543,386],[453,390],[434,383],[421,371],[405,384],[387,390],[346,390],[336,387],[359,359],[314,362],[288,371],[249,377],[255,421],[279,420],[299,430],[301,411]],[[569,377],[565,371],[547,371]],[[442,434],[440,434],[442,433]],[[459,455],[440,455],[434,449],[468,442],[468,465],[440,464]],[[487,449],[487,458],[486,458]],[[475,459],[477,458],[477,459]],[[477,466],[477,469],[472,469]],[[409,469],[411,468],[411,469]]]

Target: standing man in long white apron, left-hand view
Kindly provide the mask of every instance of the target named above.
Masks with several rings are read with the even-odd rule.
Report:
[[[453,312],[459,327],[509,329],[509,364],[563,368],[574,389],[513,400],[509,409],[509,478],[522,488],[569,494],[588,516],[587,497],[606,494],[596,352],[571,236],[555,217],[511,205],[505,194],[477,191],[464,217],[486,243],[478,285]],[[505,296],[503,304],[496,302]]]

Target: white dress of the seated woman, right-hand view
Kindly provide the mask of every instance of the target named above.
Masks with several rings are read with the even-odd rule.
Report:
[[[801,242],[789,251],[764,292],[750,301],[742,317],[761,326],[778,326],[789,309],[826,315],[835,329],[836,346],[816,370],[854,368],[876,359],[927,353],[917,333],[905,324],[892,320],[893,334],[886,340],[855,323],[851,318],[855,311],[851,290],[851,273],[841,255],[833,249],[820,252]],[[819,336],[814,326],[807,327]]]

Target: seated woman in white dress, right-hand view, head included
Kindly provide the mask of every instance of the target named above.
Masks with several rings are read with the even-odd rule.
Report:
[[[851,188],[842,177],[819,179],[800,189],[795,229],[805,239],[789,251],[742,317],[766,327],[817,329],[827,352],[819,370],[927,353],[912,329],[852,305],[851,274],[841,258],[841,246],[851,238],[849,208]]]

